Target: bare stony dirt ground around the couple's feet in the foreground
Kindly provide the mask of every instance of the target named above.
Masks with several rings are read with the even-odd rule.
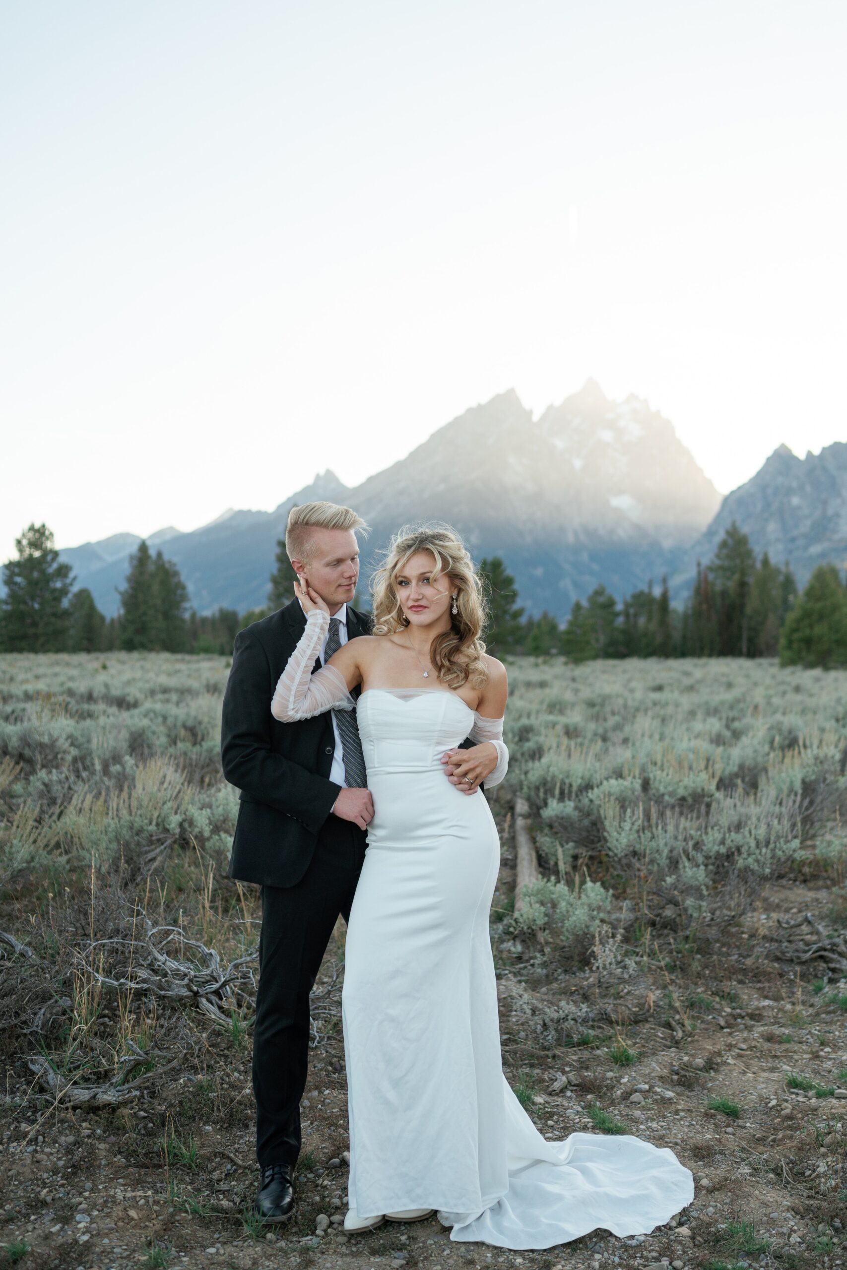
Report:
[[[495,911],[510,893],[512,865],[507,856]],[[347,1237],[335,984],[326,998],[334,1017],[312,1050],[287,1227],[268,1231],[250,1217],[249,1039],[241,1049],[225,1045],[198,1024],[206,1076],[192,1059],[127,1107],[74,1111],[34,1100],[23,1058],[10,1064],[0,1109],[0,1266],[4,1257],[25,1270],[842,1266],[847,997],[832,983],[822,988],[818,954],[796,960],[820,942],[815,923],[843,930],[833,894],[817,881],[782,881],[742,923],[697,944],[659,925],[637,949],[582,968],[522,949],[495,921],[504,1066],[538,1129],[559,1140],[599,1132],[597,1121],[622,1126],[670,1147],[695,1175],[691,1206],[649,1236],[598,1231],[512,1252],[452,1242],[432,1218]],[[330,950],[326,983],[337,970]],[[180,1147],[166,1152],[174,1124]]]

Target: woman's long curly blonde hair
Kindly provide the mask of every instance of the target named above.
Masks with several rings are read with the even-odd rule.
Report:
[[[371,579],[373,592],[373,634],[394,635],[409,625],[400,607],[395,578],[413,555],[429,551],[436,560],[432,577],[446,573],[455,588],[457,613],[450,606],[451,625],[433,643],[432,664],[438,681],[448,688],[461,688],[470,682],[481,688],[488,679],[483,657],[483,629],[485,626],[485,599],[483,584],[474,561],[456,530],[450,525],[423,525],[419,528],[404,526],[389,544],[386,559]]]

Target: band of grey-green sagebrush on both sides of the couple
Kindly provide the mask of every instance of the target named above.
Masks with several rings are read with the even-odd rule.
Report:
[[[189,852],[220,867],[227,673],[222,657],[0,658],[0,885]],[[612,895],[683,928],[728,919],[797,856],[843,883],[846,672],[521,659],[509,677],[504,791],[527,799],[546,874],[524,933],[584,947]]]

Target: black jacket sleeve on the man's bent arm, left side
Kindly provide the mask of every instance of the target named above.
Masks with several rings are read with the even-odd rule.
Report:
[[[248,630],[239,631],[223,695],[223,775],[250,798],[284,812],[310,833],[317,834],[333,810],[340,785],[273,752],[270,678],[268,657],[260,641]]]

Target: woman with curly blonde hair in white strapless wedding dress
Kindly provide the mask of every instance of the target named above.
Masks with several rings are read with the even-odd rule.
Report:
[[[437,1210],[452,1240],[517,1250],[663,1224],[693,1198],[672,1151],[546,1142],[503,1076],[489,941],[500,846],[479,757],[456,747],[494,745],[486,784],[503,779],[508,682],[481,641],[467,551],[450,528],[401,532],[375,578],[373,635],[314,672],[329,610],[305,578],[296,589],[306,629],[270,709],[291,721],[354,709],[375,808],[344,958],[344,1228]]]

